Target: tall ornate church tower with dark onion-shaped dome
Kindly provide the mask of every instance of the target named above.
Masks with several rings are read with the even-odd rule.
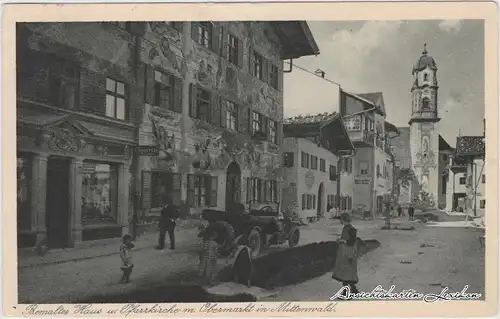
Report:
[[[437,66],[428,55],[427,45],[413,66],[411,88],[412,112],[410,148],[413,171],[420,189],[430,196],[437,206],[439,198],[439,131]]]

